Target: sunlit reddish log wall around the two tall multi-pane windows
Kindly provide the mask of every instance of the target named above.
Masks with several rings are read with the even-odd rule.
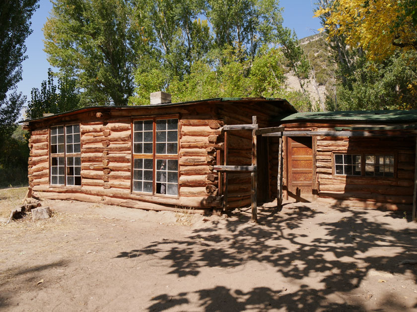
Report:
[[[165,113],[162,113],[162,110]],[[213,172],[223,121],[215,107],[144,109],[151,116],[179,114],[179,198],[131,194],[132,136],[130,113],[111,115],[80,113],[61,118],[53,124],[80,122],[81,187],[59,187],[49,184],[49,128],[31,131],[29,140],[29,182],[33,196],[56,199],[78,199],[127,207],[172,210],[175,207],[220,207],[217,173]],[[177,113],[177,114],[176,114]],[[117,116],[115,116],[117,115]],[[145,114],[138,116],[142,117]],[[95,118],[92,118],[95,117]],[[156,206],[155,206],[156,205]],[[157,207],[157,205],[163,205]],[[201,212],[194,209],[194,212]]]

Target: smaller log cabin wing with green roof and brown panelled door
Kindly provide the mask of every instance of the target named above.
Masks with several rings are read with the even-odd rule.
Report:
[[[416,218],[417,110],[298,112],[267,133],[278,201],[406,210]]]

